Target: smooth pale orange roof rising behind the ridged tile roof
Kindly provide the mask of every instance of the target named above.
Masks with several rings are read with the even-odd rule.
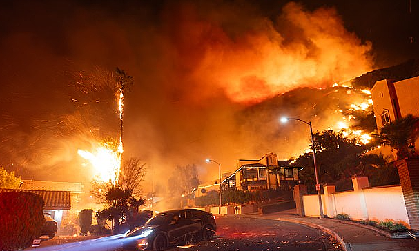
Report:
[[[51,190],[51,191],[69,191],[81,193],[83,185],[75,182],[58,182],[58,181],[32,181],[23,179],[21,189],[26,190]]]

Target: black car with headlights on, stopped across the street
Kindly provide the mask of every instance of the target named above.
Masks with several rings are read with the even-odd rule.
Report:
[[[170,245],[213,239],[217,225],[209,212],[179,209],[161,212],[124,235],[126,250],[165,250]]]

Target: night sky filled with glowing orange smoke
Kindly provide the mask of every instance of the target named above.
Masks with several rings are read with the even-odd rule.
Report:
[[[309,143],[304,125],[293,126],[299,136],[284,148],[291,132],[255,107],[295,88],[327,88],[418,59],[418,7],[407,0],[3,1],[0,165],[23,179],[89,181],[77,149],[119,137],[117,67],[134,82],[124,154],[155,174],[195,163],[208,181],[217,166],[207,157],[226,171],[236,159],[269,152],[296,157]],[[315,112],[310,96],[280,106],[313,119],[315,130],[329,128],[333,118]]]

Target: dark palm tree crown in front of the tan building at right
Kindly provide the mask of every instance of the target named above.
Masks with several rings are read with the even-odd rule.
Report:
[[[419,117],[409,114],[381,128],[380,138],[382,143],[397,150],[397,159],[407,157],[409,155],[408,149],[410,147],[414,148],[419,132],[418,122]]]

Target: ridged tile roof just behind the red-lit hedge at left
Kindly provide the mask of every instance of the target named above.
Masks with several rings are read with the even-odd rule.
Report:
[[[22,190],[0,188],[0,192],[32,192],[39,194],[45,201],[45,209],[70,210],[70,191]]]

